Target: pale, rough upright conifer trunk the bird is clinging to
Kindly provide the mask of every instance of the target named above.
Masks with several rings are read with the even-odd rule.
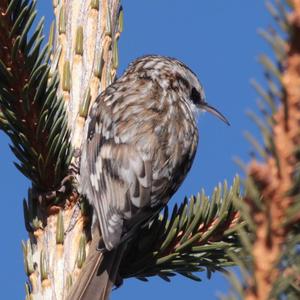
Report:
[[[53,8],[52,72],[57,69],[60,76],[58,93],[65,102],[76,154],[89,107],[116,76],[122,12],[119,0],[54,0]],[[29,194],[25,211],[29,214],[36,205],[43,221],[36,220],[23,243],[26,299],[66,299],[89,251],[88,218],[75,190],[58,205],[40,204],[35,191]]]

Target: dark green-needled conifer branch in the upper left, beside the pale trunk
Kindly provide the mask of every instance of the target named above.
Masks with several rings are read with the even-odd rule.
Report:
[[[11,138],[16,167],[40,191],[58,187],[71,159],[64,102],[44,41],[36,1],[0,1],[0,126]]]

